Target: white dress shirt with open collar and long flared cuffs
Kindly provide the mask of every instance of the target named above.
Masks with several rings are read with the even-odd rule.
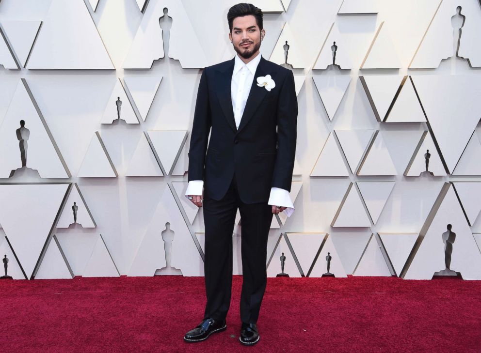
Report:
[[[261,54],[259,53],[247,64],[244,63],[237,54],[234,59],[234,71],[232,72],[230,91],[232,97],[232,109],[234,110],[234,118],[237,128],[239,128],[240,119],[244,113],[245,104],[251,90],[260,57]],[[185,196],[202,195],[203,188],[203,180],[191,180],[187,186]],[[271,194],[267,203],[273,206],[287,207],[287,209],[284,211],[287,216],[292,215],[294,212],[294,204],[290,199],[289,191],[285,189],[281,189],[279,187],[271,188]]]

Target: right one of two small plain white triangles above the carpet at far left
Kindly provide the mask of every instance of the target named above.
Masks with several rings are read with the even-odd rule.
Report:
[[[107,249],[102,234],[97,238],[97,242],[90,255],[90,260],[85,266],[83,277],[119,277],[117,266],[113,262],[112,256]]]

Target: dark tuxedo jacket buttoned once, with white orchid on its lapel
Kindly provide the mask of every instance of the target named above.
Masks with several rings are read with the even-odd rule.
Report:
[[[188,180],[204,180],[204,195],[220,200],[235,171],[242,202],[267,202],[271,187],[290,191],[298,113],[294,76],[261,57],[238,130],[230,89],[233,71],[234,58],[202,72]],[[257,77],[266,75],[275,82],[270,92],[257,86]]]

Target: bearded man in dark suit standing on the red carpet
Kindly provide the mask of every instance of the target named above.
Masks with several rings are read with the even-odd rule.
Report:
[[[297,96],[292,72],[259,53],[265,35],[261,10],[252,4],[234,5],[227,22],[237,55],[202,72],[192,125],[186,196],[204,207],[207,304],[204,319],[184,340],[202,341],[227,327],[232,233],[239,208],[240,342],[252,345],[259,340],[257,318],[267,283],[273,214],[287,209],[290,215],[294,208],[289,191]]]

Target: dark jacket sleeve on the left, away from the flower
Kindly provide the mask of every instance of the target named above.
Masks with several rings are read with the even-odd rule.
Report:
[[[202,71],[197,100],[195,102],[194,120],[192,123],[191,142],[189,147],[188,181],[204,180],[204,163],[207,142],[211,126],[209,96],[206,69]]]

